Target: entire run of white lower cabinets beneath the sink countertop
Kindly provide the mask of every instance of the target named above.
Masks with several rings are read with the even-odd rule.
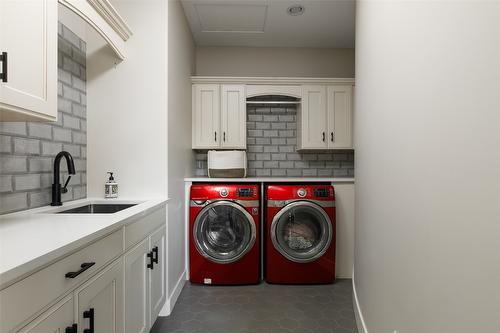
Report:
[[[0,290],[0,333],[147,333],[166,300],[166,209]]]

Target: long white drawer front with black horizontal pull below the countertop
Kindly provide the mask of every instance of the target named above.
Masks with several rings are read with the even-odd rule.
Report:
[[[120,229],[0,291],[0,332],[11,332],[19,327],[118,257],[122,249],[123,229]],[[81,274],[65,277],[68,272],[79,271],[82,263],[91,262],[95,264]]]

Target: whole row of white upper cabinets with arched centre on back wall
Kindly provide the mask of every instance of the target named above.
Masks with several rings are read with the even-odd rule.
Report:
[[[354,79],[193,76],[191,80],[193,149],[246,149],[247,103],[269,95],[300,100],[297,150],[353,149]],[[252,99],[247,102],[247,98]]]

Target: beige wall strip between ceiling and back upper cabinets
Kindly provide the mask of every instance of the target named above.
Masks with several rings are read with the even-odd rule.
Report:
[[[354,49],[197,47],[196,75],[354,77]]]

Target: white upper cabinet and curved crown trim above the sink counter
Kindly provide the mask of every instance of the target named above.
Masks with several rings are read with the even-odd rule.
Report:
[[[125,59],[132,32],[109,0],[0,0],[0,121],[57,121],[58,3]]]

